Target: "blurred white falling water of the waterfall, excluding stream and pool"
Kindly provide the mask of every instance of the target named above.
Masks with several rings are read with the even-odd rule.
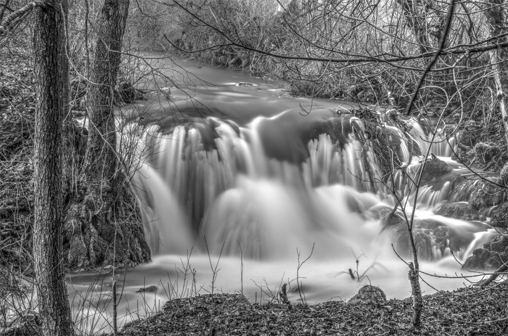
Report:
[[[406,127],[406,133],[395,124],[385,129],[396,139],[399,160],[411,161],[415,179],[433,136],[416,120]],[[289,112],[246,124],[208,117],[192,128],[149,129],[150,154],[136,178],[146,189],[139,199],[152,251],[183,253],[194,246],[236,255],[241,248],[264,260],[288,257],[312,241],[326,257],[370,248],[387,231],[406,253],[404,216],[398,211],[398,219],[386,223],[396,202],[365,131],[356,117],[327,114],[302,124]],[[442,131],[434,137],[431,154],[451,154],[443,137]],[[401,171],[394,176],[409,215],[416,188],[409,189]],[[449,189],[448,181],[419,189],[414,234],[428,260],[466,256],[488,230],[434,215]]]

